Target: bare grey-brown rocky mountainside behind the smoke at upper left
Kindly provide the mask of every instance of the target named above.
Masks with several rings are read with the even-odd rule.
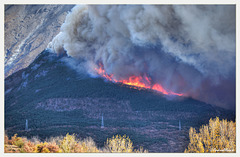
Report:
[[[73,5],[5,5],[5,78],[27,67],[59,33]]]

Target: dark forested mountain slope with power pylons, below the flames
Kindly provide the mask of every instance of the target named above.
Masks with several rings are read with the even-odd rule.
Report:
[[[27,68],[5,78],[8,135],[45,139],[75,133],[91,136],[103,146],[108,137],[126,134],[136,148],[183,152],[190,127],[200,127],[215,116],[235,121],[233,111],[92,78],[72,69],[66,60],[71,58],[44,50]]]

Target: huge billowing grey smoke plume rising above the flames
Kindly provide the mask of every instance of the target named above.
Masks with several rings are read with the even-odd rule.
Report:
[[[234,108],[235,14],[233,5],[79,5],[49,48],[84,59],[90,74],[102,63],[116,79],[147,74],[174,92]]]

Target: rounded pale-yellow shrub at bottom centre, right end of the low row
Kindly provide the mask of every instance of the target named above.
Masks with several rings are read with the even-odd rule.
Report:
[[[105,147],[111,153],[131,153],[133,152],[133,144],[126,135],[116,135],[108,138]]]

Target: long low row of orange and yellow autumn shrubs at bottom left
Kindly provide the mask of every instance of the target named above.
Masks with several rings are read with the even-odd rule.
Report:
[[[133,149],[133,143],[126,135],[116,135],[108,138],[103,148],[98,148],[92,138],[79,140],[76,136],[67,134],[65,137],[50,138],[40,142],[37,138],[9,138],[5,135],[5,153],[147,153],[142,147]]]

